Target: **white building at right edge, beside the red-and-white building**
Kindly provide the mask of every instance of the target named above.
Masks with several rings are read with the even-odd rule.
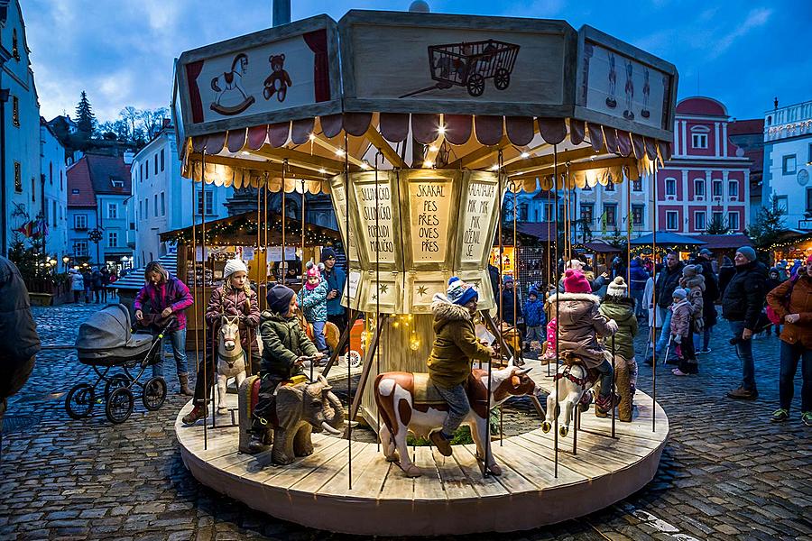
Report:
[[[778,104],[776,104],[778,105]],[[770,196],[787,209],[786,225],[812,230],[812,101],[764,115],[762,203]]]

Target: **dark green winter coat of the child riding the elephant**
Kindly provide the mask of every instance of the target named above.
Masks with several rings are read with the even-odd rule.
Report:
[[[290,380],[302,373],[296,360],[300,356],[318,353],[316,345],[299,325],[297,316],[286,317],[265,310],[260,316],[260,334],[263,338],[263,361],[260,375],[273,379]]]

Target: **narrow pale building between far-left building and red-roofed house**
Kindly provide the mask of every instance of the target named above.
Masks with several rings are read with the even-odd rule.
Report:
[[[42,183],[42,215],[47,224],[45,252],[59,261],[70,255],[68,247],[68,168],[65,148],[51,131],[45,119],[40,119],[40,174]]]

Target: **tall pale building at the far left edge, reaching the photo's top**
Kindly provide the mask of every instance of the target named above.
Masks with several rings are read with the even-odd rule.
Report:
[[[19,2],[0,3],[0,251],[14,242],[30,246],[14,230],[41,212],[40,105],[28,58]]]

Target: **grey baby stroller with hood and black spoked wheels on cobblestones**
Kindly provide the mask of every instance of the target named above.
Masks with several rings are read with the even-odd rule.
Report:
[[[78,383],[65,399],[65,409],[74,419],[88,417],[97,402],[97,386],[105,382],[105,414],[111,423],[125,422],[133,413],[134,389],[141,390],[143,407],[155,411],[166,399],[166,381],[154,377],[139,381],[147,366],[161,360],[161,339],[174,321],[161,319],[136,334],[124,305],[108,305],[79,326],[76,339],[78,360],[93,368],[96,382]],[[113,369],[121,369],[110,373]],[[101,402],[101,399],[98,400]]]

